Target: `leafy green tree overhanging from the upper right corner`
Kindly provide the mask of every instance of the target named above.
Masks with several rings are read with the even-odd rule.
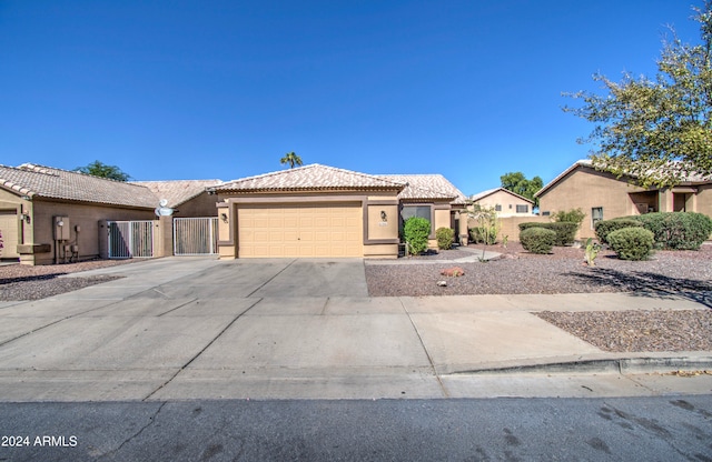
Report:
[[[564,107],[595,128],[589,138],[593,165],[630,175],[643,187],[670,187],[690,175],[712,175],[712,1],[694,8],[701,42],[683,43],[672,31],[663,42],[654,79],[625,73],[621,82],[595,74],[606,94],[563,93],[582,101]]]

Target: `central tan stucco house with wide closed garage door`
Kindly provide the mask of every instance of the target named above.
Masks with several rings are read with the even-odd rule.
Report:
[[[312,164],[220,184],[220,257],[396,258],[402,208],[451,227],[458,193],[443,180]]]

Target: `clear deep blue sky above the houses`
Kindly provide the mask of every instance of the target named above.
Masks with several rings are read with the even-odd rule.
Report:
[[[0,163],[135,180],[305,164],[548,182],[591,147],[562,92],[654,76],[701,0],[0,1]]]

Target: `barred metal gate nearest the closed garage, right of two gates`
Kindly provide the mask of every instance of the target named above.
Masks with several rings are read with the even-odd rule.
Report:
[[[214,255],[218,252],[217,218],[175,218],[175,255]]]

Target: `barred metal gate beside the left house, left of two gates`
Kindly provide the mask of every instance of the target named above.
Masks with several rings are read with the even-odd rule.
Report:
[[[109,258],[154,257],[154,222],[109,221]]]

